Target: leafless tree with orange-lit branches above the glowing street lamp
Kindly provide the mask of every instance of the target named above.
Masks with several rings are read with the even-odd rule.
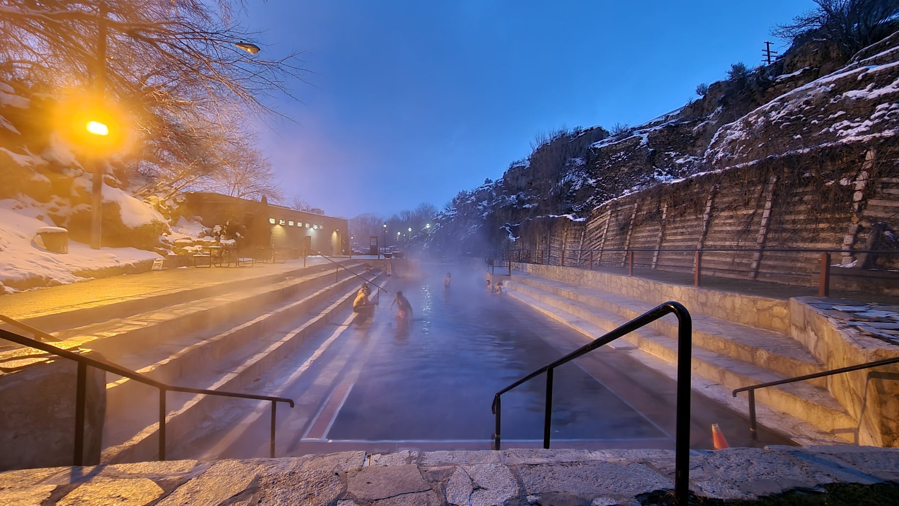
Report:
[[[296,53],[266,58],[236,46],[256,35],[235,21],[243,8],[243,0],[2,0],[0,79],[58,96],[95,87],[122,104],[140,132],[129,163],[144,193],[209,183],[219,171],[231,180],[271,173],[245,159],[253,136],[243,125],[273,113],[264,98],[288,93],[304,70]]]

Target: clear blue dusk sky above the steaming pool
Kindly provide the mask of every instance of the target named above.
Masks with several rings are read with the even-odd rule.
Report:
[[[287,196],[389,215],[498,178],[541,130],[636,125],[681,107],[810,0],[251,0],[263,55],[310,84],[261,127]]]

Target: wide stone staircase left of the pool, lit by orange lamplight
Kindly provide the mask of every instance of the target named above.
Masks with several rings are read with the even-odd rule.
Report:
[[[362,280],[379,271],[358,261],[298,267],[257,278],[178,287],[109,304],[77,307],[29,322],[64,340],[64,348],[98,351],[103,359],[156,381],[197,389],[269,395],[261,377],[352,314]],[[356,275],[353,275],[356,274]],[[98,297],[101,299],[102,297]],[[66,326],[64,326],[66,325]],[[158,457],[159,392],[134,379],[106,375],[106,412],[101,462],[138,462]],[[165,395],[168,448],[191,447],[201,426],[222,418],[234,402],[216,395]],[[227,423],[227,420],[218,420]],[[171,449],[169,451],[172,451]],[[196,456],[193,456],[196,457]]]

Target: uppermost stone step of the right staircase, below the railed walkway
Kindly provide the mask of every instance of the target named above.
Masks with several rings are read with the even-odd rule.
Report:
[[[556,297],[578,302],[632,320],[654,307],[652,303],[640,299],[621,296],[599,289],[575,285],[561,280],[550,280],[532,274],[513,271],[512,280],[543,290]],[[687,308],[690,310],[690,307]],[[778,308],[775,308],[778,309]],[[770,369],[785,377],[814,374],[824,370],[823,364],[806,350],[802,343],[791,336],[734,324],[714,316],[692,312],[693,344],[709,351],[716,351],[727,357]],[[677,337],[676,322],[663,318],[648,327],[672,338]],[[826,378],[809,382],[815,386],[826,386]]]

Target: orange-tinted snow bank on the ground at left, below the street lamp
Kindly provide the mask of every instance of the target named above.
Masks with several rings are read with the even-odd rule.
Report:
[[[0,200],[0,289],[17,291],[6,284],[24,283],[31,278],[74,283],[85,280],[78,271],[116,267],[160,258],[158,253],[136,248],[92,250],[88,244],[69,239],[68,253],[50,253],[31,239],[40,227],[52,226],[40,209],[28,208],[18,200]],[[41,286],[46,283],[39,283]],[[54,283],[55,284],[55,283]],[[2,292],[0,292],[2,293]]]

